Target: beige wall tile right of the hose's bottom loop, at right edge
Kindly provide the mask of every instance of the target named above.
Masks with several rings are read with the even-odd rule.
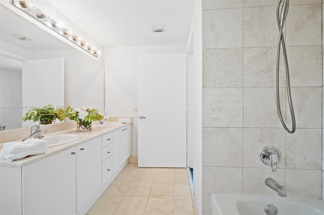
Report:
[[[321,128],[322,126],[322,89],[291,88],[293,106],[295,110],[296,127]],[[288,102],[286,103],[287,124],[291,125]]]

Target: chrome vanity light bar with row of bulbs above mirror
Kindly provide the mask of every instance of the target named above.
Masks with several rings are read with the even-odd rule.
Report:
[[[64,38],[73,41],[74,44],[88,51],[88,53],[94,55],[95,57],[98,58],[98,55],[101,54],[100,50],[97,50],[95,47],[89,45],[88,42],[74,34],[73,31],[67,29],[62,21],[55,20],[49,13],[39,10],[32,0],[12,0],[11,4],[32,18],[43,23],[48,28],[54,30],[56,33],[62,35]]]

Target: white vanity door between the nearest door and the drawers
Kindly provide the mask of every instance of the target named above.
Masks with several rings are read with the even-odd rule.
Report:
[[[101,187],[101,137],[76,147],[76,211]]]

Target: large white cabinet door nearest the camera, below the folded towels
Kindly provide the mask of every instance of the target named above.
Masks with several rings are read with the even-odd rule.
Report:
[[[22,167],[23,214],[75,214],[75,147]]]

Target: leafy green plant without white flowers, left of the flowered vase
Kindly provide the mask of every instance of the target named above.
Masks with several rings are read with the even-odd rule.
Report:
[[[39,121],[39,124],[52,124],[56,119],[63,121],[65,119],[65,112],[62,108],[56,109],[51,104],[42,106],[41,108],[30,109],[22,117],[23,121]]]

